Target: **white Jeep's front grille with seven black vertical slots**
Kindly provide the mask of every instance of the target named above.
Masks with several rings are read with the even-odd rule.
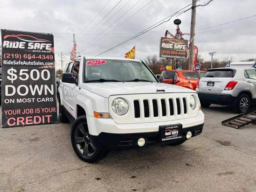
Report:
[[[176,98],[176,102],[174,99],[152,99],[152,100],[134,100],[134,117],[140,118],[142,109],[144,111],[144,117],[149,118],[150,116],[158,117],[160,114],[162,117],[164,116],[173,116],[173,115],[181,115],[187,113],[187,103],[186,98]],[[149,102],[152,103],[152,110],[150,111]],[[182,102],[182,105],[181,105]],[[143,106],[140,106],[143,105]],[[161,106],[161,107],[160,107]],[[169,106],[169,110],[166,110],[166,107]],[[175,110],[176,108],[176,110]],[[169,114],[167,114],[169,111]],[[176,114],[174,114],[174,112]]]

